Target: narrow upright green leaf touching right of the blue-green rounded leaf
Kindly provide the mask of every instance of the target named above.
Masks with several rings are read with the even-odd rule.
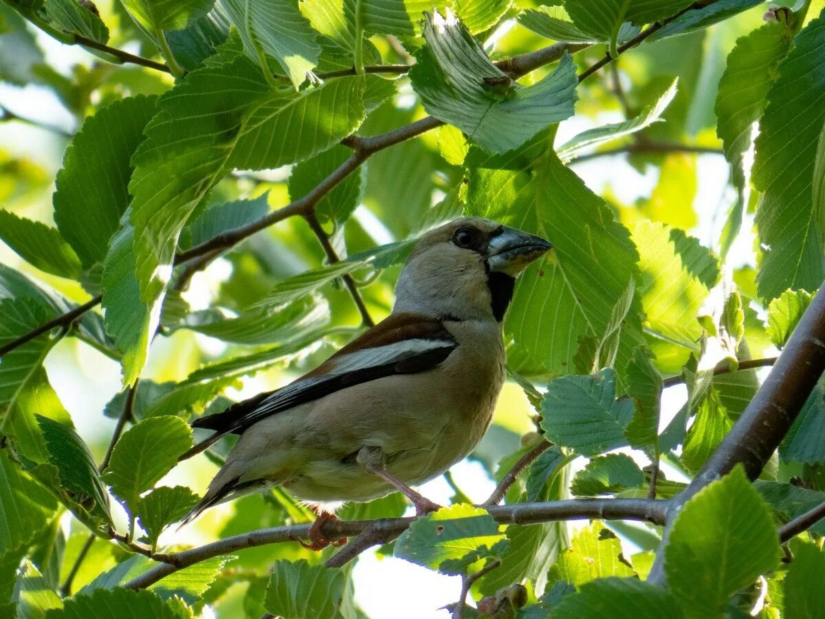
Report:
[[[633,418],[625,428],[630,447],[653,446],[658,452],[659,413],[662,409],[662,375],[653,366],[650,351],[636,347],[627,366],[627,395],[633,399]]]

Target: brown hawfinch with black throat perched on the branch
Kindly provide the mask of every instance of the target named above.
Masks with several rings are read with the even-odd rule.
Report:
[[[316,506],[310,545],[336,505],[394,490],[417,513],[440,506],[411,486],[468,456],[487,431],[505,378],[502,324],[518,276],[549,241],[461,217],[423,234],[398,276],[392,312],[281,389],[196,419],[240,435],[203,499],[206,508],[280,485]],[[182,526],[182,525],[181,525]]]

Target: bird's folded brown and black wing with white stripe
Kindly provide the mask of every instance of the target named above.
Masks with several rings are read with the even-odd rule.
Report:
[[[222,413],[196,419],[192,428],[208,428],[215,433],[192,447],[181,460],[204,451],[225,434],[240,434],[263,418],[299,404],[384,376],[430,370],[456,347],[458,343],[441,320],[422,314],[391,314],[289,385],[233,404]]]

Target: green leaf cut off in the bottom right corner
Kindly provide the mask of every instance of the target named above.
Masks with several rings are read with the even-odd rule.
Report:
[[[785,585],[783,617],[818,617],[825,607],[825,590],[818,585],[825,570],[825,553],[816,544],[790,542],[794,560],[790,562]]]

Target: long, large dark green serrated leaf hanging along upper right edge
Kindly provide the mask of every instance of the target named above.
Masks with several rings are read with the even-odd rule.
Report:
[[[779,296],[787,288],[815,290],[823,280],[823,231],[813,209],[813,169],[825,122],[825,16],[794,38],[779,65],[760,122],[753,184],[764,193],[757,206],[761,259],[759,295]]]

